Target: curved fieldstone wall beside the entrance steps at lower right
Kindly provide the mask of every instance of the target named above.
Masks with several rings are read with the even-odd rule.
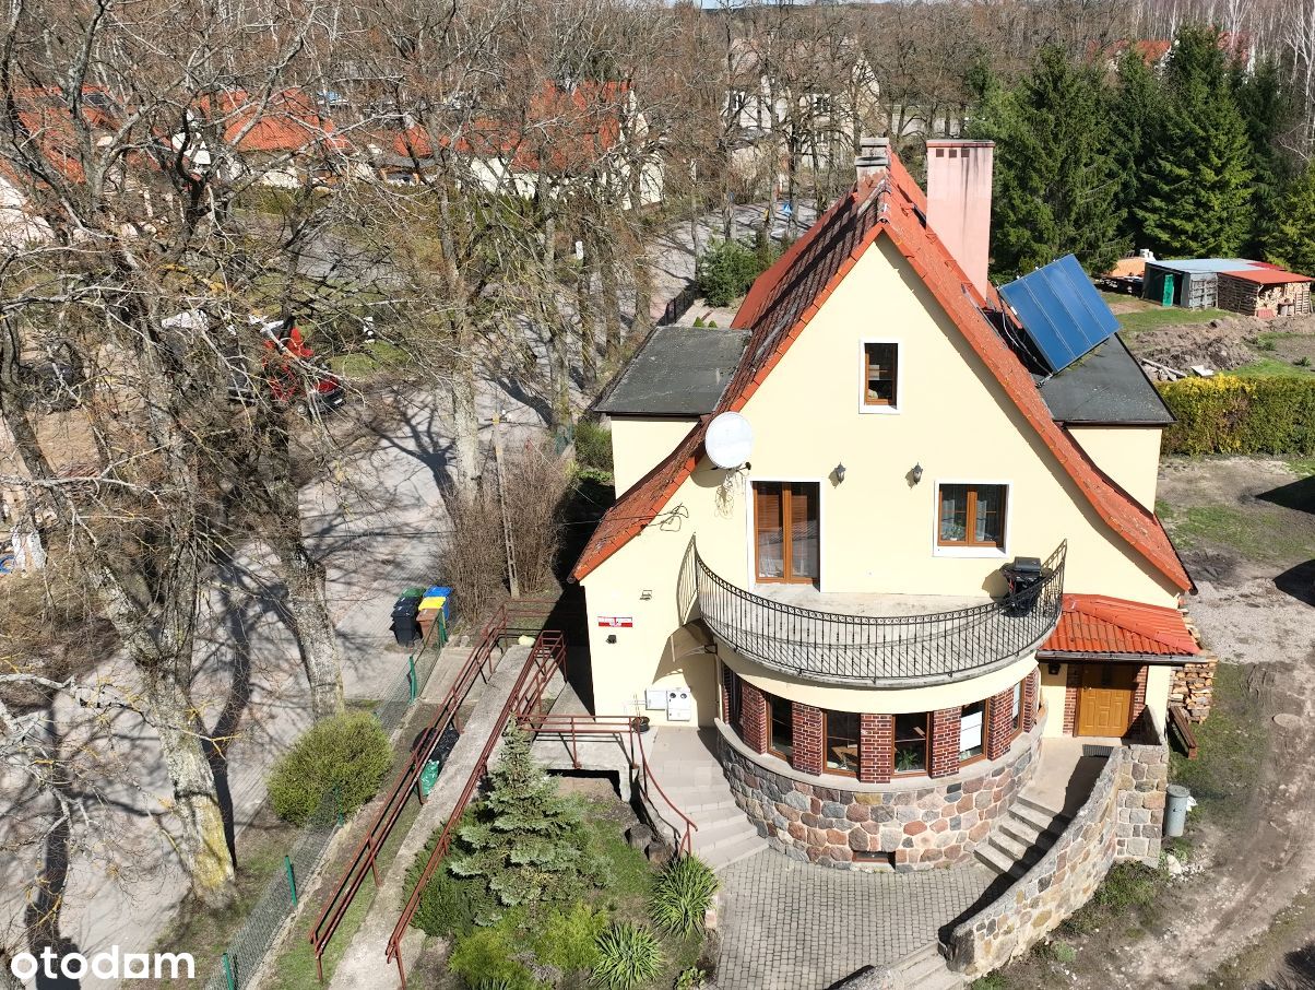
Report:
[[[1169,750],[1115,749],[1045,856],[949,936],[949,968],[976,979],[1022,956],[1085,904],[1119,860],[1159,861]]]

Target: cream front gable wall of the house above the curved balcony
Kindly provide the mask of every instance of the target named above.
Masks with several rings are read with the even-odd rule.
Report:
[[[897,415],[859,412],[865,338],[901,342]],[[671,664],[690,537],[697,533],[702,557],[725,579],[751,583],[752,479],[821,482],[825,592],[998,594],[1003,562],[1044,558],[1066,538],[1065,590],[1176,602],[1177,590],[1090,508],[885,238],[822,305],[744,415],[755,433],[752,467],[727,488],[726,471],[705,458],[664,511],[583,582],[600,712],[617,711]],[[614,442],[619,450],[625,441],[614,433]],[[836,483],[830,475],[842,462],[846,479]],[[920,484],[906,479],[914,463],[924,471]],[[1011,484],[1003,553],[935,553],[938,479]],[[650,600],[640,600],[642,590]],[[633,615],[635,627],[601,629],[600,615]],[[604,642],[608,632],[615,644]],[[713,657],[706,662],[711,669]],[[707,724],[715,690],[698,704]],[[1061,723],[1052,717],[1047,731]]]

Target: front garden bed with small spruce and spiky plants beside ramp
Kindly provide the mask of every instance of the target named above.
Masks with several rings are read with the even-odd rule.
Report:
[[[696,858],[659,866],[626,841],[608,793],[563,794],[512,731],[413,924],[443,939],[443,990],[693,990],[717,881]],[[435,833],[412,866],[414,889]],[[433,948],[433,945],[427,947]],[[426,964],[422,964],[426,965]],[[426,972],[429,966],[426,965]]]

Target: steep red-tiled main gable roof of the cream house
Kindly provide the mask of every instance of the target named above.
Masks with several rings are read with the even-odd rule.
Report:
[[[744,407],[881,236],[907,259],[1101,519],[1176,587],[1190,590],[1191,578],[1155,513],[1110,481],[1051,417],[1031,374],[982,315],[985,300],[927,228],[926,196],[894,154],[886,171],[842,196],[753,283],[734,320],[735,328],[750,332],[748,345],[714,412]],[[665,459],[622,494],[585,546],[572,573],[575,579],[611,557],[665,508],[698,463],[706,424],[701,420]]]

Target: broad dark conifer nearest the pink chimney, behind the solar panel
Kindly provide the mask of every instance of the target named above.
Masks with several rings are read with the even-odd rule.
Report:
[[[1119,257],[1119,179],[1095,70],[1043,49],[1011,93],[982,108],[974,136],[995,141],[997,276],[1016,278],[1069,251],[1090,270]]]

